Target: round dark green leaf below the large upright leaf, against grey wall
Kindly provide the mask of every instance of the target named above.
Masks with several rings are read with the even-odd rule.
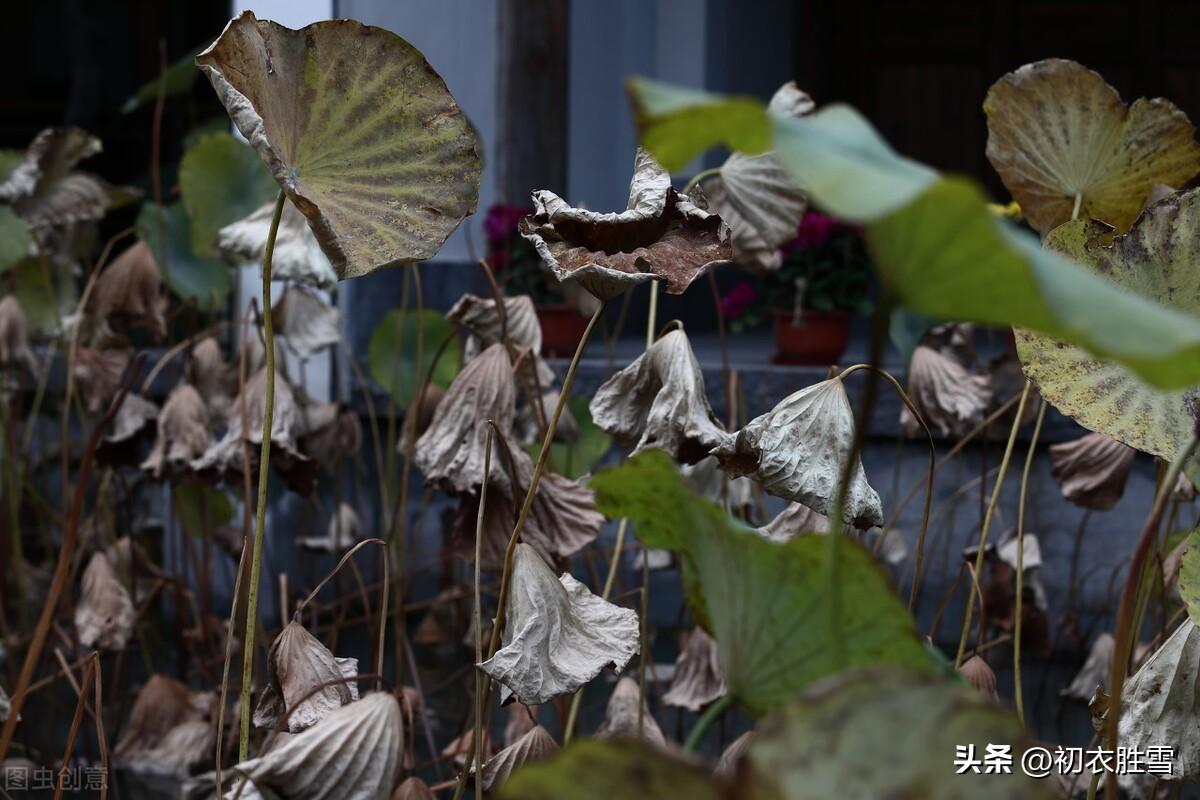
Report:
[[[418,324],[418,320],[420,323]],[[416,371],[418,329],[421,330],[421,372]],[[367,366],[371,377],[384,391],[391,393],[396,404],[407,408],[413,402],[416,390],[428,374],[442,341],[454,333],[455,327],[440,313],[425,309],[420,315],[415,311],[402,308],[388,312],[388,315],[371,332],[367,343]],[[454,342],[446,345],[433,369],[432,383],[445,389],[458,374],[462,356]]]

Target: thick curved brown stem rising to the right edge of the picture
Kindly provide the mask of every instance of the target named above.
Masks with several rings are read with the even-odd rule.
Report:
[[[1136,633],[1134,606],[1138,603],[1138,595],[1141,590],[1146,557],[1150,554],[1150,548],[1156,541],[1159,524],[1163,521],[1163,510],[1166,507],[1171,492],[1175,491],[1175,485],[1180,480],[1180,473],[1183,471],[1183,464],[1188,463],[1192,458],[1198,444],[1200,444],[1200,431],[1193,428],[1188,443],[1175,456],[1175,461],[1166,469],[1163,482],[1158,486],[1158,495],[1154,498],[1154,505],[1150,511],[1150,516],[1146,517],[1146,524],[1141,529],[1141,536],[1138,537],[1138,545],[1134,547],[1133,555],[1129,559],[1129,571],[1126,573],[1124,588],[1121,590],[1121,604],[1117,607],[1116,646],[1112,648],[1112,674],[1109,676],[1109,686],[1111,688],[1109,690],[1109,711],[1104,728],[1104,742],[1109,750],[1115,751],[1117,748],[1120,736],[1117,722],[1121,720],[1121,690],[1124,687],[1126,670],[1129,667],[1129,652],[1133,649],[1133,639]],[[1112,799],[1117,796],[1115,780],[1105,782],[1104,794],[1106,798]]]

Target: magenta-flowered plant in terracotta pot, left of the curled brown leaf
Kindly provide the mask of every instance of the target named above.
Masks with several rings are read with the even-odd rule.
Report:
[[[570,357],[583,338],[588,319],[547,279],[538,252],[517,233],[517,222],[530,213],[533,209],[506,203],[487,210],[484,219],[487,264],[506,294],[529,295],[533,300],[541,325],[542,355]]]

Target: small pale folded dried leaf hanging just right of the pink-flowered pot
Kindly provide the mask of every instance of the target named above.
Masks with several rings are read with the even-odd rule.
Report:
[[[991,403],[991,381],[920,345],[908,361],[908,397],[930,428],[943,437],[961,437],[983,422]],[[900,425],[910,437],[922,433],[907,408],[900,411]]]

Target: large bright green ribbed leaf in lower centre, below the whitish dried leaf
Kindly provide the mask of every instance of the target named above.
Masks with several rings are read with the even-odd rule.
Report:
[[[642,488],[614,501],[634,483]],[[600,473],[590,487],[596,507],[629,517],[644,545],[679,553],[688,602],[716,639],[730,693],[750,714],[767,715],[847,667],[935,668],[904,603],[857,542],[838,548],[835,630],[824,536],[763,539],[695,494],[659,450]],[[644,530],[654,531],[650,541]]]

